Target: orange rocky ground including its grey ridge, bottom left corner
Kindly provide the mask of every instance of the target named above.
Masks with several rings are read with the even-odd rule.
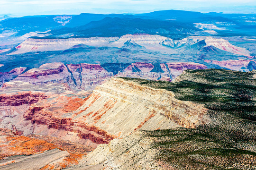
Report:
[[[92,150],[82,144],[59,138],[34,135],[22,136],[18,131],[4,128],[0,128],[0,148],[0,167],[4,170],[25,170],[29,167],[34,168],[36,163],[35,167],[39,164],[41,170],[49,168],[63,169],[78,164],[82,156]],[[60,159],[58,158],[59,153],[64,153]],[[56,156],[56,158],[50,159],[50,157],[47,157],[48,154]],[[17,166],[21,167],[17,168]]]

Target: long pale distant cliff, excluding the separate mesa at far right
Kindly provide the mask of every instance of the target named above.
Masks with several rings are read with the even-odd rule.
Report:
[[[16,47],[12,54],[35,52],[35,51],[64,51],[75,45],[85,44],[93,47],[122,47],[128,46],[141,48],[145,46],[148,49],[161,49],[162,45],[174,46],[174,40],[149,34],[127,34],[121,37],[90,37],[90,38],[50,38],[37,39],[28,38]],[[156,45],[156,48],[154,47]],[[162,47],[163,48],[163,47]],[[169,49],[170,50],[170,49]]]

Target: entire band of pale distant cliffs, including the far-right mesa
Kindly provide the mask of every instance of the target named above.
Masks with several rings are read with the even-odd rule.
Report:
[[[27,53],[32,51],[64,51],[75,45],[84,44],[88,47],[118,47],[121,48],[132,42],[136,48],[147,50],[165,51],[177,53],[176,50],[183,46],[193,45],[200,41],[205,42],[204,47],[213,46],[223,51],[251,58],[246,48],[232,45],[228,40],[213,38],[210,36],[189,36],[182,40],[172,40],[168,37],[150,34],[127,34],[121,37],[90,37],[90,38],[28,38],[15,47],[16,51],[11,54]],[[133,48],[134,48],[133,47]]]

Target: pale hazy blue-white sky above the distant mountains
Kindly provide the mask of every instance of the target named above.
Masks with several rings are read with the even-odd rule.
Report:
[[[0,14],[142,13],[180,9],[256,13],[256,0],[0,0]]]

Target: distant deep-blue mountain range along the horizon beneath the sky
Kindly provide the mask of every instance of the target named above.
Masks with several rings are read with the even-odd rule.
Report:
[[[0,32],[16,30],[17,35],[52,30],[53,36],[121,36],[124,34],[159,34],[172,38],[199,35],[203,30],[195,23],[214,24],[225,27],[219,35],[251,35],[255,27],[255,14],[221,14],[181,10],[155,11],[146,14],[88,14],[60,16],[27,16],[0,21]],[[176,29],[175,29],[176,28]],[[63,35],[65,34],[65,35]]]

